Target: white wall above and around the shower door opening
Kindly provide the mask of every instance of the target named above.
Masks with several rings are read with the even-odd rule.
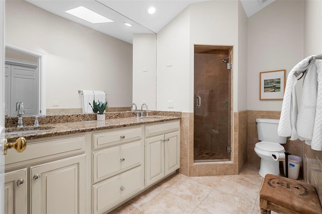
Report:
[[[193,45],[233,46],[233,93],[237,94],[238,81],[238,1],[209,1],[193,4],[191,9],[190,60]],[[190,67],[194,69],[194,66]],[[193,72],[191,72],[193,78]],[[192,82],[193,83],[193,82]],[[193,88],[193,84],[190,85]],[[189,110],[193,112],[193,90],[190,92]],[[237,96],[233,96],[233,109],[237,110]]]

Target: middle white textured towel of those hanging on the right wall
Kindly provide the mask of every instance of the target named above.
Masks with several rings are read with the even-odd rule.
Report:
[[[302,97],[298,108],[296,129],[298,138],[308,144],[312,140],[317,99],[317,73],[315,61],[307,68],[302,86]]]

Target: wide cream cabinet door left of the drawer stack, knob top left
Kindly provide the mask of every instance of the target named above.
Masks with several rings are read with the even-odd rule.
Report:
[[[30,167],[31,213],[85,213],[85,154]]]

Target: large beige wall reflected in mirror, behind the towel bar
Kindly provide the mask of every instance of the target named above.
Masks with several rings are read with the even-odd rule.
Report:
[[[105,90],[109,106],[132,102],[132,45],[25,1],[6,1],[6,41],[46,53],[46,107],[81,108],[78,89]]]

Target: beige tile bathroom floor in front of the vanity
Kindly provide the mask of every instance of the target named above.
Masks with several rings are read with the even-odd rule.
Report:
[[[248,162],[238,175],[187,177],[176,173],[110,213],[261,213],[259,164]],[[271,212],[276,213],[276,212]]]

